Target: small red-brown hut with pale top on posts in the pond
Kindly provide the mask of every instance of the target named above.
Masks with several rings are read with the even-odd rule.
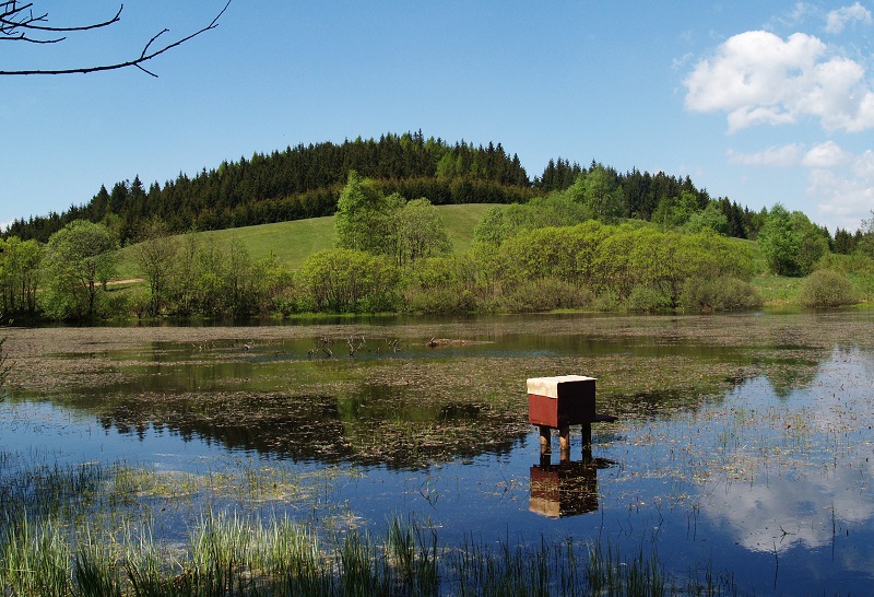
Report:
[[[616,420],[595,412],[594,394],[594,377],[562,375],[528,381],[528,419],[540,426],[541,452],[550,452],[553,429],[558,430],[559,447],[565,454],[570,449],[570,425],[582,425],[586,449],[592,441],[592,423]]]

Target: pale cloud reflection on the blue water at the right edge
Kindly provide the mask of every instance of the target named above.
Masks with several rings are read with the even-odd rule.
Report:
[[[793,391],[786,402],[787,421],[803,414],[807,429],[802,443],[808,448],[780,463],[753,458],[752,483],[727,484],[724,478],[711,477],[699,490],[701,512],[753,551],[820,548],[831,543],[836,532],[871,527],[872,356],[836,349],[831,359],[820,364],[814,382]],[[757,394],[756,386],[758,383],[752,382],[729,400],[741,401],[751,390]],[[779,442],[777,437],[771,441]],[[745,449],[739,448],[732,456],[744,459]]]

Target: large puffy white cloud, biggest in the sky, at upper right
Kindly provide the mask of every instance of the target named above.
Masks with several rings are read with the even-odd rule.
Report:
[[[727,113],[730,132],[805,116],[819,118],[827,130],[874,127],[874,91],[864,68],[830,57],[825,43],[803,33],[786,40],[765,31],[734,35],[698,61],[684,84],[686,107]]]

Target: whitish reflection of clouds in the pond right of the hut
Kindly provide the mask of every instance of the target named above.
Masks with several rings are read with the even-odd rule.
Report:
[[[870,534],[873,377],[874,355],[836,347],[813,379],[784,396],[764,378],[735,390],[730,402],[743,414],[723,454],[734,472],[701,484],[704,514],[756,552],[816,550]],[[769,389],[779,401],[763,408],[756,399]]]

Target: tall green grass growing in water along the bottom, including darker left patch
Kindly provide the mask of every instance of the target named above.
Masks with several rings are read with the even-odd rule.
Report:
[[[677,584],[654,551],[625,559],[600,540],[491,548],[469,538],[442,546],[432,525],[402,516],[374,536],[287,516],[210,511],[187,540],[168,542],[132,517],[111,517],[110,528],[95,523],[99,515],[85,515],[95,504],[101,515],[118,507],[113,492],[123,484],[108,477],[119,471],[92,465],[3,475],[3,596],[659,596],[734,589],[730,578],[717,582],[710,573],[704,583],[690,574]]]

